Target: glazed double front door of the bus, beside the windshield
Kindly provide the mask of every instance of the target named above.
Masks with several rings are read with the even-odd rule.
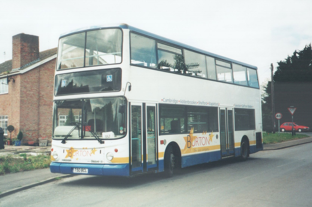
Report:
[[[131,174],[157,168],[156,104],[131,103]]]

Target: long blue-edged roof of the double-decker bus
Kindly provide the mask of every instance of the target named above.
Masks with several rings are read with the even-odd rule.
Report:
[[[134,31],[134,32],[146,35],[146,36],[150,36],[150,37],[153,37],[153,38],[155,38],[157,40],[165,41],[165,42],[171,43],[173,45],[181,46],[181,47],[183,47],[185,49],[197,51],[197,52],[200,52],[200,53],[212,56],[212,57],[216,57],[216,58],[219,58],[219,59],[222,59],[222,60],[227,60],[229,62],[233,62],[233,63],[239,64],[239,65],[243,65],[243,66],[246,66],[246,67],[253,68],[253,69],[257,70],[257,67],[254,66],[254,65],[249,65],[249,64],[246,64],[246,63],[243,63],[243,62],[240,62],[240,61],[237,61],[237,60],[233,60],[233,59],[221,56],[221,55],[217,55],[217,54],[214,54],[214,53],[211,53],[211,52],[207,52],[207,51],[198,49],[196,47],[192,47],[192,46],[183,44],[181,42],[177,42],[177,41],[174,41],[174,40],[171,40],[171,39],[159,36],[159,35],[155,35],[155,34],[150,33],[148,31],[144,31],[144,30],[141,30],[139,28],[136,28],[136,27],[133,27],[133,26],[129,26],[128,24],[124,24],[124,23],[122,23],[122,24],[107,24],[107,25],[101,25],[101,26],[84,27],[84,28],[80,28],[80,29],[72,30],[70,32],[63,33],[63,34],[61,34],[60,38],[63,37],[63,36],[69,35],[71,33],[76,33],[76,32],[86,31],[86,30],[93,30],[93,29],[100,29],[100,28],[107,28],[107,27],[120,27],[122,29],[129,29],[130,31]]]

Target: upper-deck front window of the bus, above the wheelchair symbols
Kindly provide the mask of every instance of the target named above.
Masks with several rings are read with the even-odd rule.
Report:
[[[121,63],[122,31],[100,29],[60,38],[56,70]]]

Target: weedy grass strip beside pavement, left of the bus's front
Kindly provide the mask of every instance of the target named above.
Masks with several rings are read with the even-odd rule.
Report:
[[[21,172],[34,169],[42,169],[50,166],[50,156],[27,156],[21,153],[19,156],[0,156],[0,175],[6,173]]]

